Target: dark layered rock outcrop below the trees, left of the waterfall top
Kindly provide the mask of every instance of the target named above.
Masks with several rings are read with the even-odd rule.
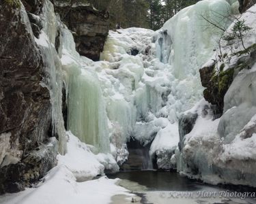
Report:
[[[74,32],[79,54],[98,61],[109,33],[109,14],[91,5],[66,5],[60,1],[54,1],[54,4],[61,20]]]

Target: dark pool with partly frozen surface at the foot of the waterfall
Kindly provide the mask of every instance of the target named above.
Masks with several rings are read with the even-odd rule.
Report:
[[[154,204],[160,204],[160,203],[166,203],[167,201],[161,200],[162,198],[158,194],[154,194],[154,198],[157,198],[156,201],[152,202],[150,197],[147,197],[148,192],[172,192],[172,191],[179,191],[179,192],[199,192],[202,193],[201,197],[199,197],[197,200],[193,200],[193,197],[188,197],[188,201],[191,200],[192,203],[212,203],[216,204],[218,203],[217,200],[211,200],[212,197],[210,196],[209,199],[203,199],[205,197],[205,192],[216,192],[217,195],[219,192],[225,192],[226,190],[229,190],[229,192],[256,192],[255,188],[248,188],[246,186],[212,186],[209,184],[204,184],[202,182],[198,182],[197,180],[190,180],[187,177],[181,176],[179,173],[176,172],[167,172],[167,171],[120,171],[119,173],[115,173],[112,175],[107,175],[111,179],[119,178],[121,180],[128,180],[130,182],[136,182],[141,186],[147,187],[144,190],[142,190],[141,193],[141,187],[139,188],[139,191],[137,191],[136,188],[130,188],[129,182],[121,183],[120,185],[132,190],[135,194],[137,194],[139,197],[141,197],[141,203],[154,203]],[[133,183],[134,184],[134,183]],[[135,185],[136,187],[136,185]],[[167,194],[168,195],[168,194]],[[206,195],[206,197],[208,197]],[[202,199],[200,199],[202,198]],[[215,197],[214,197],[215,198]],[[217,196],[218,198],[218,196]],[[221,203],[226,204],[249,204],[249,203],[255,203],[256,199],[255,197],[246,197],[246,199],[241,199],[240,197],[226,197],[223,196],[222,198],[225,198],[225,200],[221,201]],[[149,200],[147,200],[149,199]],[[176,199],[176,198],[175,198]],[[170,203],[173,200],[169,200]],[[168,201],[168,202],[169,202]],[[180,201],[179,198],[177,198],[175,201]],[[208,202],[209,201],[209,202]],[[167,202],[167,203],[168,203]],[[182,200],[184,202],[184,200]],[[116,203],[116,202],[114,202]],[[118,202],[117,202],[118,203]],[[181,202],[180,202],[181,203]],[[188,203],[188,202],[185,202]]]

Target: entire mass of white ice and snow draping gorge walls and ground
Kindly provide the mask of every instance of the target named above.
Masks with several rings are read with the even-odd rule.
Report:
[[[131,138],[144,146],[152,142],[150,156],[157,156],[159,168],[170,169],[177,163],[180,173],[205,182],[255,186],[256,65],[237,73],[225,95],[221,118],[214,120],[210,104],[200,101],[203,88],[198,70],[216,56],[213,50],[223,34],[203,17],[227,27],[231,22],[221,21],[220,16],[237,10],[238,1],[204,0],[180,11],[160,31],[110,31],[102,61],[93,62],[76,52],[72,33],[46,0],[44,28],[35,42],[46,59],[42,86],[51,93],[53,133],[59,136],[59,152],[66,155],[58,156],[57,167],[39,188],[26,191],[29,197],[14,197],[7,203],[36,203],[42,197],[45,203],[94,203],[95,191],[104,192],[102,203],[113,194],[127,195],[113,180],[85,181],[102,175],[104,169],[118,171],[117,163],[127,160],[126,141]],[[242,16],[250,26],[255,12],[254,6]],[[57,50],[56,37],[60,39]],[[246,46],[255,44],[255,35],[250,33],[244,41]],[[240,45],[234,49],[238,51]],[[234,57],[225,61],[225,69],[236,61]],[[63,86],[68,132],[61,112]],[[178,120],[183,114],[195,116],[195,125],[180,140]],[[3,165],[16,163],[21,154],[10,150],[9,138],[8,133],[0,135]],[[67,201],[60,199],[63,193],[70,194]]]

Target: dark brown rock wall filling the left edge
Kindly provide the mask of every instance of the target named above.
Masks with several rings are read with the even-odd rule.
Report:
[[[22,190],[55,164],[44,63],[20,1],[0,3],[0,193]],[[41,1],[23,1],[39,13]],[[33,16],[32,13],[29,16]],[[8,29],[7,29],[8,28]]]

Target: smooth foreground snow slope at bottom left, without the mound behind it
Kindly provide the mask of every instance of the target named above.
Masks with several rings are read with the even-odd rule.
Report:
[[[76,182],[76,178],[65,165],[58,165],[44,177],[36,186],[16,194],[5,194],[0,198],[3,204],[82,204],[82,203],[111,203],[111,197],[124,194],[131,200],[133,194],[115,185],[118,179],[109,180],[100,177],[98,180]],[[96,193],[97,192],[97,193]]]

